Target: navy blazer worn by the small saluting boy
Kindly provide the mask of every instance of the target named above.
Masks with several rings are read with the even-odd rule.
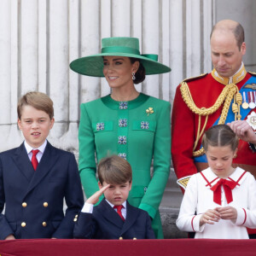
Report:
[[[92,213],[79,213],[74,238],[85,239],[154,239],[148,212],[132,207],[126,201],[125,222],[106,200],[93,208]]]

